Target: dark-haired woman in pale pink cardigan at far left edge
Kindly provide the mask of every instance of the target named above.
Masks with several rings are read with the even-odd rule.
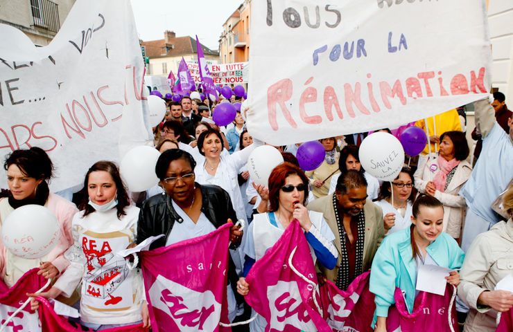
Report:
[[[53,172],[53,164],[45,151],[39,147],[20,149],[8,155],[3,167],[7,171],[9,196],[0,200],[0,223],[15,209],[24,205],[36,204],[48,208],[57,216],[60,237],[57,245],[46,255],[38,259],[24,259],[12,254],[0,242],[0,275],[7,286],[13,286],[18,279],[31,268],[40,268],[39,275],[46,279],[57,277],[69,265],[64,252],[73,243],[71,219],[78,211],[76,206],[62,197],[51,194],[47,181]],[[32,236],[37,241],[37,220],[34,216]],[[21,248],[20,248],[21,249]]]

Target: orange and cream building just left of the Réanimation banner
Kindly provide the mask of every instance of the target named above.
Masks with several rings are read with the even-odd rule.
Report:
[[[250,19],[251,1],[244,0],[223,24],[219,39],[222,64],[247,62],[250,58]]]

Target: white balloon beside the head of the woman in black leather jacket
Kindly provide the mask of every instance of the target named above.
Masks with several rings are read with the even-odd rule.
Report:
[[[142,145],[125,154],[119,165],[119,174],[130,192],[144,192],[159,182],[155,165],[160,154],[157,149]]]

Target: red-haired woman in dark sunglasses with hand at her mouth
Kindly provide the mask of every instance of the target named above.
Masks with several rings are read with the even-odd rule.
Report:
[[[319,259],[327,268],[335,267],[338,259],[336,248],[333,246],[335,236],[322,213],[306,210],[304,203],[307,198],[308,178],[299,167],[282,163],[272,170],[269,176],[270,210],[254,215],[243,240],[245,264],[244,277],[237,283],[239,294],[249,293],[251,285],[247,284],[245,276],[250,272],[254,262],[261,259],[266,251],[274,246],[295,219],[304,230],[314,264],[315,260]],[[266,325],[266,320],[257,316],[257,319],[250,323],[250,331],[264,331]]]

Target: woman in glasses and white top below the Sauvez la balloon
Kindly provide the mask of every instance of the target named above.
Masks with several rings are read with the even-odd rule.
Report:
[[[397,178],[390,182],[384,181],[379,190],[376,205],[383,210],[383,226],[386,235],[403,230],[411,225],[413,176],[408,167],[403,167]],[[392,196],[394,201],[392,202]]]

